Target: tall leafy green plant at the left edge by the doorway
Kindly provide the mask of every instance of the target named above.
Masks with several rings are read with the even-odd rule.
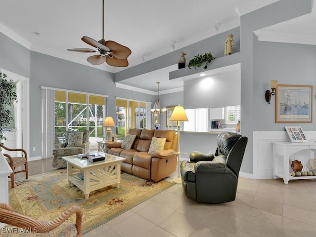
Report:
[[[0,142],[6,140],[2,129],[7,127],[13,119],[12,113],[7,107],[13,105],[13,101],[16,99],[16,84],[5,78],[6,75],[0,72]]]

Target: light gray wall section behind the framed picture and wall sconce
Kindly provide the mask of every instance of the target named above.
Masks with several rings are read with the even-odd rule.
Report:
[[[254,41],[255,80],[253,86],[253,118],[257,131],[284,131],[284,126],[302,126],[303,130],[315,130],[313,123],[275,123],[275,96],[271,104],[264,99],[265,90],[270,88],[270,80],[278,84],[313,85],[313,118],[315,110],[316,46],[292,43]],[[265,116],[262,116],[264,114]]]

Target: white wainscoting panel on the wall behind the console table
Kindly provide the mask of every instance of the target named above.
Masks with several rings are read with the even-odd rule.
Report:
[[[316,131],[304,131],[309,141],[316,140]],[[272,179],[272,143],[290,142],[286,131],[253,132],[253,179]],[[304,151],[302,151],[304,153]],[[301,154],[295,155],[296,157]],[[298,158],[297,158],[298,159]]]

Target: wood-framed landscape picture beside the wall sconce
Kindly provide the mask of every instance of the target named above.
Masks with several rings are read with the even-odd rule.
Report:
[[[276,86],[276,122],[312,122],[312,85]]]

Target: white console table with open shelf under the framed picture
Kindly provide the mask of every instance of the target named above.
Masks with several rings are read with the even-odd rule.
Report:
[[[289,180],[295,179],[316,179],[316,176],[291,176],[290,175],[290,156],[296,152],[310,149],[316,152],[316,142],[275,142],[273,143],[272,152],[272,175],[273,178],[283,178],[284,184],[288,184]],[[278,169],[278,160],[281,159],[282,168]]]

